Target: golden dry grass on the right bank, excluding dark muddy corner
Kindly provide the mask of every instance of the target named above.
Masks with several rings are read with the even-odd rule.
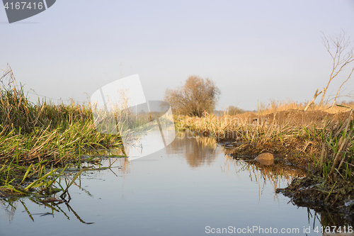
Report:
[[[351,176],[350,173],[348,175],[348,165],[354,164],[354,159],[351,163],[354,157],[352,113],[343,113],[342,120],[330,115],[316,120],[319,113],[307,111],[314,115],[309,117],[308,122],[304,122],[302,114],[297,116],[299,122],[295,122],[297,120],[291,116],[292,113],[290,116],[278,116],[279,113],[263,116],[264,120],[248,113],[222,117],[210,114],[202,118],[180,116],[177,127],[193,130],[197,135],[214,137],[217,141],[232,140],[236,147],[235,154],[272,152],[282,154],[288,162],[311,169],[326,166],[324,175],[336,172],[342,162],[339,167],[343,169],[343,164],[346,164],[344,175]],[[343,163],[344,157],[348,157],[348,163]]]

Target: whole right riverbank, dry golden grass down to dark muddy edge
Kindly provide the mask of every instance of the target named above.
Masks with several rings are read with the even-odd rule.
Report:
[[[286,189],[278,190],[298,206],[347,214],[354,206],[350,108],[338,113],[287,110],[176,120],[178,129],[214,137],[236,159],[270,152],[287,164],[307,169],[306,177],[295,178]]]

